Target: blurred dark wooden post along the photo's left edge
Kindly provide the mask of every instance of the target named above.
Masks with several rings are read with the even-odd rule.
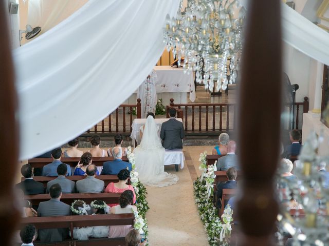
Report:
[[[19,222],[19,202],[14,199],[14,177],[19,153],[17,108],[14,73],[11,58],[8,1],[0,3],[0,148],[3,175],[0,179],[0,238],[2,245],[12,245],[11,237]]]

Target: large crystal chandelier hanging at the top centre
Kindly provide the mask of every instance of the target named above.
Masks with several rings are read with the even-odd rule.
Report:
[[[245,15],[239,0],[189,1],[176,18],[167,15],[167,50],[173,50],[178,66],[184,57],[184,71],[195,71],[197,83],[212,90],[217,81],[216,89],[226,90],[229,83],[235,83],[239,70]]]

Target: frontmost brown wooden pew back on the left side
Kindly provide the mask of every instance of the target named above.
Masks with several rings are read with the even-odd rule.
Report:
[[[63,163],[66,163],[67,165],[71,167],[76,167],[78,165],[78,162],[80,161],[80,157],[63,157],[61,158],[61,161]],[[93,164],[102,167],[103,162],[114,160],[113,157],[93,157]],[[123,161],[128,161],[126,156],[122,157]],[[52,158],[32,158],[28,159],[27,162],[31,165],[32,168],[42,168],[43,166],[49,164],[52,162]]]

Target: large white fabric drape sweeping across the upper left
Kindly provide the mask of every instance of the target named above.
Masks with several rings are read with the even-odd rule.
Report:
[[[128,98],[160,57],[166,14],[174,16],[178,5],[90,0],[14,50],[20,159],[80,135]]]

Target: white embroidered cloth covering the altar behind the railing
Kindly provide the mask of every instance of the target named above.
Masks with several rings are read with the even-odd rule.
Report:
[[[184,73],[182,68],[171,66],[155,66],[158,77],[156,92],[190,92],[190,100],[195,100],[193,73]]]

